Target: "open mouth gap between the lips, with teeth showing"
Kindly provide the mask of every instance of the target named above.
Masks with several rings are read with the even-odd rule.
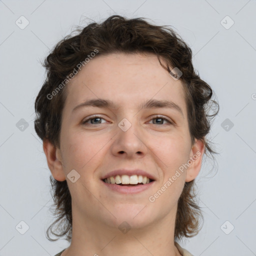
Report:
[[[116,184],[120,186],[139,186],[153,182],[154,180],[143,175],[114,175],[102,179],[108,184]]]

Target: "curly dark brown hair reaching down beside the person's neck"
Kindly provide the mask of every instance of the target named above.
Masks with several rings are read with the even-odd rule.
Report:
[[[218,113],[219,105],[216,100],[211,99],[211,87],[194,71],[191,49],[172,28],[151,24],[145,21],[145,18],[127,19],[112,15],[101,23],[92,22],[75,31],[78,31],[78,34],[69,34],[59,41],[42,63],[47,70],[47,77],[35,100],[34,120],[35,131],[42,140],[47,138],[55,147],[60,147],[61,114],[67,96],[66,86],[57,91],[54,98],[49,99],[49,95],[53,95],[52,91],[61,82],[63,85],[63,80],[76,70],[77,64],[88,54],[95,49],[98,50],[97,55],[113,52],[150,52],[158,57],[161,66],[168,72],[174,67],[182,72],[179,79],[185,91],[191,142],[193,144],[195,139],[202,140],[205,154],[209,152],[213,157],[216,152],[209,145],[210,141],[207,141],[205,135],[209,133],[211,120]],[[161,63],[159,57],[165,60],[166,65]],[[215,111],[210,114],[209,110],[213,104]],[[72,211],[67,182],[55,180],[51,175],[50,182],[57,219],[48,227],[47,239],[59,239],[50,238],[50,232],[57,237],[65,236],[65,239],[70,241]],[[178,200],[174,240],[194,236],[201,229],[200,218],[203,220],[203,216],[195,200],[194,184],[194,180],[185,182]]]

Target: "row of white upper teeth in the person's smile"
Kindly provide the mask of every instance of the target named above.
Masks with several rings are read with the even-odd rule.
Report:
[[[142,175],[116,175],[110,176],[104,179],[104,182],[111,184],[137,184],[137,183],[149,183],[149,178]]]

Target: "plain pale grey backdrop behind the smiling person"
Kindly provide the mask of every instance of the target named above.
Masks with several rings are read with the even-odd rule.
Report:
[[[217,165],[207,160],[196,178],[203,228],[181,246],[202,256],[256,255],[255,0],[0,0],[0,255],[54,255],[68,246],[44,234],[53,216],[50,171],[33,128],[45,78],[40,60],[75,25],[85,25],[84,17],[102,21],[115,13],[172,25],[220,104],[208,137],[220,152]],[[15,23],[21,15],[29,21],[24,29]],[[24,234],[20,221],[29,226]]]

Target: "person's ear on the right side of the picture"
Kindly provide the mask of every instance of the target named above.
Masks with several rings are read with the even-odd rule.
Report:
[[[201,139],[196,139],[194,144],[191,147],[189,160],[192,162],[186,170],[186,182],[189,182],[198,175],[201,163],[202,163],[202,156],[204,153],[205,145]],[[189,161],[189,162],[190,162]]]

